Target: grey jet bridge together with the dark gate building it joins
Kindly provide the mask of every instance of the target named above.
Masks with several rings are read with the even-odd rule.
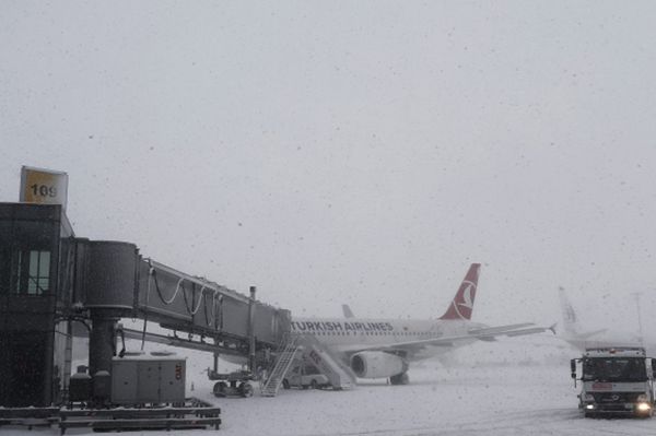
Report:
[[[143,330],[159,342],[243,356],[251,366],[291,326],[289,310],[254,292],[144,258],[131,243],[75,237],[60,205],[0,203],[0,349],[8,351],[0,353],[0,406],[66,399],[75,322],[90,329],[90,373],[110,372],[121,318],[187,334]]]

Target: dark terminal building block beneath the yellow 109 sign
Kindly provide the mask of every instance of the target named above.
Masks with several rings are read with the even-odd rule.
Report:
[[[60,394],[73,240],[60,205],[0,204],[0,405]]]

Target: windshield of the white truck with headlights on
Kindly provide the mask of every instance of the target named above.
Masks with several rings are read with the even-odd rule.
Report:
[[[588,357],[583,361],[583,379],[586,381],[645,381],[647,379],[645,360]]]

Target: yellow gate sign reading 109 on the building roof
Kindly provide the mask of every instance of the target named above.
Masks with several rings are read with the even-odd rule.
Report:
[[[50,169],[21,168],[21,201],[26,203],[61,204],[66,209],[68,174]]]

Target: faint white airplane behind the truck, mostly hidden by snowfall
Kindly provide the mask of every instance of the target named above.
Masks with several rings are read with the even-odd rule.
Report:
[[[561,286],[558,290],[561,310],[563,314],[563,330],[564,333],[558,334],[557,337],[567,342],[570,345],[574,346],[577,350],[585,351],[585,349],[605,349],[605,347],[613,347],[613,346],[644,346],[641,341],[635,339],[628,338],[609,338],[608,335],[599,337],[600,334],[608,331],[608,329],[599,329],[593,331],[582,332],[579,331],[578,319],[576,317],[576,313],[574,311],[574,307],[567,295],[565,294],[565,290]]]

